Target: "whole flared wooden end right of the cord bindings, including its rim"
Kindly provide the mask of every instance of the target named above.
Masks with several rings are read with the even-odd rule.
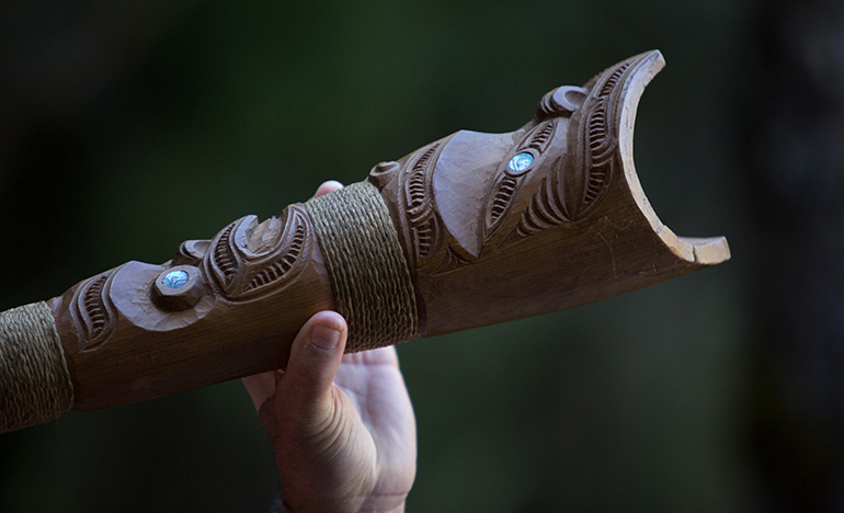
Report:
[[[549,92],[513,133],[458,132],[374,182],[399,213],[422,334],[569,308],[729,258],[722,238],[674,236],[636,178],[635,111],[662,66],[655,52],[627,59]]]

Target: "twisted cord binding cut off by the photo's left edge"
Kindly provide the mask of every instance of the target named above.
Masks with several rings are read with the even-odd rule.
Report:
[[[47,422],[72,407],[73,386],[47,304],[0,314],[0,433]]]

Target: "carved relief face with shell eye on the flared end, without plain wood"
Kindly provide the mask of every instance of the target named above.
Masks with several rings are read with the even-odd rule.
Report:
[[[376,184],[397,186],[411,264],[447,273],[588,217],[620,170],[620,99],[636,64],[550,91],[515,132],[460,130],[373,169]]]

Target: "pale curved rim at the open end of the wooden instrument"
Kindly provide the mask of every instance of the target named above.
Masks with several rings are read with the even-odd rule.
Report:
[[[664,67],[665,59],[659,50],[648,52],[637,62],[636,69],[625,84],[626,91],[624,91],[621,100],[621,122],[618,124],[618,145],[621,153],[624,176],[637,207],[650,224],[653,232],[659,236],[674,255],[693,264],[715,265],[730,260],[730,247],[727,243],[727,238],[678,237],[668,226],[663,225],[659,216],[657,216],[648,201],[648,196],[645,195],[645,191],[639,182],[639,175],[636,173],[632,148],[634,126],[639,100],[645,92],[645,88]]]

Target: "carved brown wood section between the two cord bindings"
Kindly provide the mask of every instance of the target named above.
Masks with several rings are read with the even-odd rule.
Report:
[[[84,410],[281,368],[288,346],[280,340],[334,303],[310,218],[296,204],[186,241],[163,265],[128,262],[50,306],[75,408]]]

